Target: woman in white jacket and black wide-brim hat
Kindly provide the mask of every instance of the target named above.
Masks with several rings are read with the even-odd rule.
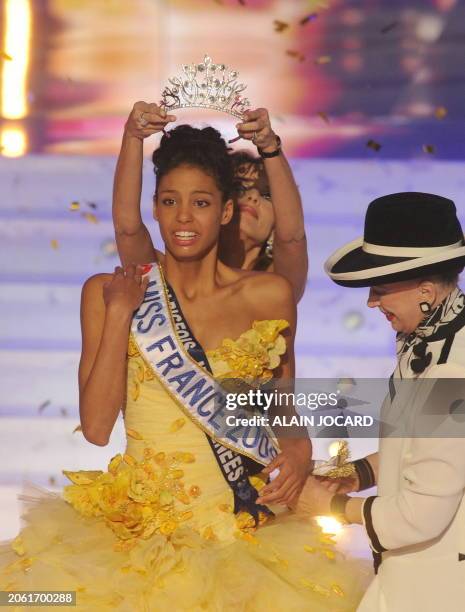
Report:
[[[365,526],[376,575],[358,612],[465,610],[464,265],[454,203],[424,193],[372,202],[364,237],[325,264],[336,283],[369,286],[368,306],[397,332],[381,419],[406,434],[381,433],[379,452],[355,462],[351,487],[310,477],[297,505]],[[374,484],[374,496],[343,494]]]

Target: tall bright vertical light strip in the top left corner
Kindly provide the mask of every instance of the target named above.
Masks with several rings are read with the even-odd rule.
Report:
[[[30,0],[6,0],[1,115],[21,119],[27,115],[27,70],[31,38]]]

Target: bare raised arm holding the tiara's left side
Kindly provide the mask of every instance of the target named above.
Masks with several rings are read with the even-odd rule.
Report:
[[[149,263],[156,258],[141,216],[144,139],[160,132],[174,119],[156,104],[136,102],[124,127],[113,183],[113,224],[123,266]]]

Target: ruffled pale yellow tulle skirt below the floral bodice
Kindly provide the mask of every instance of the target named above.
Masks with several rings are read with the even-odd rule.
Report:
[[[371,575],[291,514],[245,539],[205,538],[186,524],[129,550],[55,494],[30,498],[23,519],[20,536],[0,546],[0,590],[76,591],[80,611],[348,612]]]

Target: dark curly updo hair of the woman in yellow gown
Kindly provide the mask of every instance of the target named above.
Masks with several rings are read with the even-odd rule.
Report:
[[[178,125],[168,134],[163,135],[152,155],[157,186],[174,168],[183,164],[194,166],[215,180],[226,202],[233,191],[234,170],[228,146],[218,130]]]

